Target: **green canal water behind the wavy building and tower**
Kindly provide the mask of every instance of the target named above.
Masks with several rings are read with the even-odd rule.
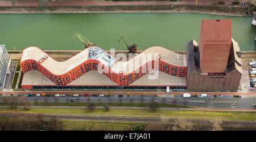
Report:
[[[82,50],[76,32],[102,49],[126,50],[119,38],[125,35],[138,50],[164,46],[185,50],[192,38],[199,41],[201,20],[232,19],[232,37],[241,50],[256,50],[256,26],[252,17],[207,14],[0,14],[0,44],[23,50]],[[74,44],[75,43],[75,46]]]

